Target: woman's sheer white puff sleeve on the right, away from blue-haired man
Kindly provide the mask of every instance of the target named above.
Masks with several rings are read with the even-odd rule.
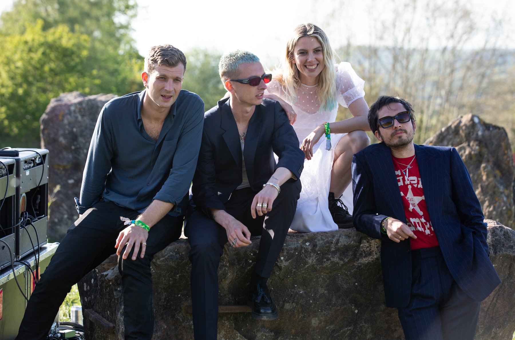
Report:
[[[341,106],[349,107],[357,98],[363,98],[365,81],[358,77],[351,64],[341,62],[336,66],[336,97]]]

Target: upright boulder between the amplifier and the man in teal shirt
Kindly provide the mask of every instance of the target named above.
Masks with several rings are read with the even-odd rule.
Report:
[[[48,149],[50,159],[48,235],[52,241],[60,241],[77,218],[73,198],[80,193],[91,135],[102,106],[114,97],[63,93],[50,100],[41,116],[41,147]]]

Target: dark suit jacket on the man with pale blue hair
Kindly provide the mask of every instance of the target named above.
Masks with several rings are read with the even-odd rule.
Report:
[[[192,186],[193,200],[201,209],[225,210],[224,203],[242,183],[242,148],[228,99],[220,100],[204,114],[202,144]],[[279,157],[278,164],[274,152]],[[278,167],[285,167],[300,177],[304,152],[277,101],[263,99],[255,107],[247,128],[244,156],[254,191],[260,191]]]

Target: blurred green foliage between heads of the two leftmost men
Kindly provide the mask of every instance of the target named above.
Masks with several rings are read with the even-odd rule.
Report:
[[[218,75],[221,55],[207,49],[194,48],[186,53],[186,73],[182,88],[198,94],[204,101],[205,110],[214,107],[226,93]]]

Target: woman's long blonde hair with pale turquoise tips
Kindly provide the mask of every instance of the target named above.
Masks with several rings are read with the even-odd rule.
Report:
[[[293,34],[286,43],[286,58],[282,63],[282,72],[279,72],[276,78],[289,96],[290,103],[295,103],[297,101],[297,90],[300,87],[300,71],[293,62],[295,59],[293,50],[302,37],[316,37],[322,45],[325,67],[320,72],[318,79],[318,98],[320,107],[326,111],[331,111],[338,106],[336,101],[336,69],[334,66],[335,53],[329,44],[327,35],[317,25],[301,24],[295,27]]]

